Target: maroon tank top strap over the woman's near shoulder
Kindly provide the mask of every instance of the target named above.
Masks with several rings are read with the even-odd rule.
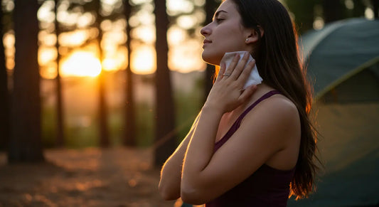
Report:
[[[271,97],[272,95],[275,95],[275,94],[282,94],[281,92],[279,92],[279,90],[271,90],[267,93],[265,93],[265,95],[262,95],[262,97],[260,97],[258,100],[256,100],[254,103],[252,103],[252,105],[250,105],[249,107],[247,107],[247,109],[242,112],[242,114],[240,115],[240,117],[237,118],[237,120],[235,120],[235,122],[233,123],[232,127],[230,127],[230,129],[228,130],[228,132],[226,132],[226,134],[224,135],[224,137],[222,137],[220,140],[218,140],[218,142],[215,142],[215,151],[217,151],[226,141],[228,141],[228,139],[230,137],[232,137],[232,135],[234,134],[235,131],[237,131],[237,129],[240,127],[240,124],[243,120],[243,118],[247,115],[248,112],[250,112],[256,105],[258,105],[260,102],[262,102],[263,100]]]

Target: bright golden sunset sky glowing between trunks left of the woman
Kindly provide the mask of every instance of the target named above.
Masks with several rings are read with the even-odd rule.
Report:
[[[156,51],[155,44],[155,26],[154,26],[154,6],[151,6],[148,0],[132,0],[134,4],[143,4],[142,9],[138,11],[129,20],[132,26],[132,50],[131,60],[127,60],[127,41],[126,27],[127,22],[124,18],[114,21],[105,20],[101,23],[102,29],[102,61],[99,60],[99,48],[96,43],[98,36],[97,28],[91,26],[95,21],[95,16],[86,12],[69,12],[66,11],[68,4],[62,1],[63,6],[58,7],[58,21],[63,26],[75,26],[73,31],[64,31],[59,37],[55,36],[53,12],[54,1],[44,1],[38,10],[38,19],[40,20],[41,31],[39,33],[39,50],[38,63],[41,66],[41,76],[51,79],[56,76],[57,53],[56,42],[60,44],[60,75],[63,77],[95,77],[100,74],[101,70],[124,70],[130,63],[133,73],[151,74],[156,70]],[[112,8],[118,5],[117,0],[103,0],[105,8]],[[184,4],[186,3],[186,4]],[[197,0],[193,5],[202,5],[204,1]],[[103,6],[104,6],[103,5]],[[183,0],[167,2],[167,9],[171,14],[181,12],[190,12],[193,9],[192,4]],[[107,7],[108,6],[108,7]],[[110,7],[109,7],[110,6]],[[63,9],[60,9],[63,8]],[[203,22],[204,14],[200,11],[194,12],[194,15],[186,15],[178,18],[167,33],[169,43],[169,68],[181,73],[188,73],[193,70],[203,70],[205,63],[201,60],[201,42],[200,32],[195,36],[187,33],[188,27],[196,26],[200,31],[199,22]],[[8,31],[4,34],[4,46],[6,48],[6,67],[9,70],[14,68],[14,32]]]

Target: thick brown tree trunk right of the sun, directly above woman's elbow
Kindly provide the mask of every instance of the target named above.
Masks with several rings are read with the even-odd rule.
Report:
[[[166,1],[154,0],[156,19],[156,132],[154,164],[160,167],[176,148],[174,100],[168,67]]]

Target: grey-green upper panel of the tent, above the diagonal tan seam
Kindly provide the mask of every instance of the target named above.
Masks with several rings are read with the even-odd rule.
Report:
[[[318,98],[379,61],[379,20],[337,21],[305,33],[300,46]]]

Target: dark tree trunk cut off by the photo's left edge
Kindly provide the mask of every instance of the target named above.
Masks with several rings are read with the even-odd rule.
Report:
[[[3,10],[0,9],[0,40],[3,39]],[[0,41],[0,150],[6,149],[9,142],[9,91],[6,73],[4,44]]]

